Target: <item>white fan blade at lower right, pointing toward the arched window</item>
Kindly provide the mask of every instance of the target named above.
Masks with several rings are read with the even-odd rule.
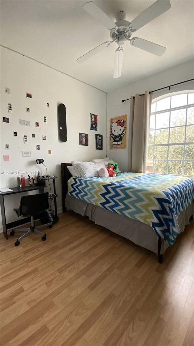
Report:
[[[159,46],[156,43],[144,40],[143,38],[134,37],[130,41],[131,45],[140,49],[143,49],[144,51],[147,51],[149,53],[161,56],[165,53],[166,48],[163,46]]]

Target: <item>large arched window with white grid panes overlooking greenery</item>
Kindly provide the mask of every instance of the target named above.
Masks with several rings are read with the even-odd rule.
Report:
[[[194,93],[153,101],[147,172],[194,176]]]

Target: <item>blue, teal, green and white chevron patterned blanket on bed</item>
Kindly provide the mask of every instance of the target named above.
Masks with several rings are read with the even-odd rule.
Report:
[[[68,181],[68,195],[144,222],[173,245],[178,215],[194,200],[194,181],[175,175],[122,172],[115,178]]]

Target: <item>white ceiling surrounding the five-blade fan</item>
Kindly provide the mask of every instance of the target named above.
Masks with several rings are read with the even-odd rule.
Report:
[[[80,81],[109,92],[116,43],[83,64],[76,59],[110,39],[109,31],[89,15],[86,1],[1,1],[1,45],[33,58]],[[155,1],[95,1],[113,20],[118,11],[132,21]],[[194,54],[194,1],[171,0],[171,9],[137,31],[138,36],[167,47],[158,57],[124,44],[119,86],[190,60]],[[132,36],[132,37],[133,37]]]

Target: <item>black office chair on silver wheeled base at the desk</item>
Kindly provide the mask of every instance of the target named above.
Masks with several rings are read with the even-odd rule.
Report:
[[[13,209],[13,210],[16,212],[17,216],[30,216],[31,225],[30,225],[30,228],[12,229],[12,231],[10,232],[11,236],[14,235],[15,231],[22,231],[22,232],[27,231],[25,234],[23,234],[21,237],[19,237],[16,240],[16,243],[15,243],[16,246],[20,244],[20,239],[26,237],[30,232],[39,233],[42,235],[41,239],[43,241],[46,240],[46,233],[39,231],[38,228],[45,227],[45,226],[49,226],[49,228],[52,227],[53,219],[49,211],[47,210],[48,208],[49,208],[48,192],[23,196],[21,198],[19,209]],[[46,217],[49,220],[49,222],[47,224],[40,225],[35,228],[35,221],[34,221],[35,216],[39,216],[39,217],[43,216],[44,218]]]

